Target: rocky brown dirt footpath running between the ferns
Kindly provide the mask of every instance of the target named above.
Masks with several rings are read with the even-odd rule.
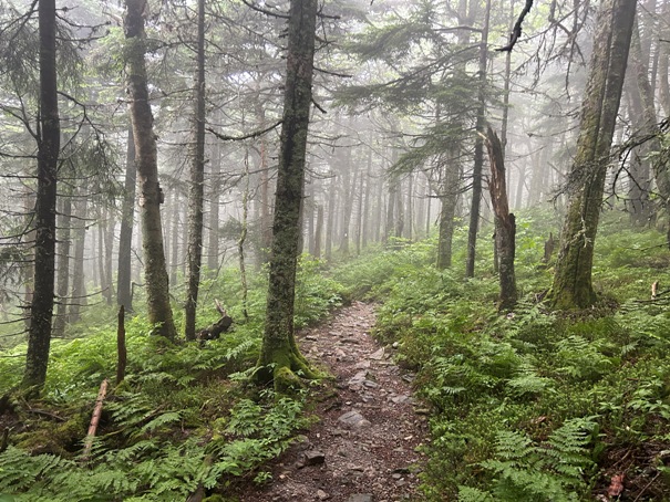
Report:
[[[336,380],[313,411],[319,422],[271,466],[272,481],[241,494],[243,502],[420,500],[425,410],[411,395],[412,375],[393,363],[394,349],[370,336],[374,321],[374,306],[357,302],[298,334],[302,353]]]

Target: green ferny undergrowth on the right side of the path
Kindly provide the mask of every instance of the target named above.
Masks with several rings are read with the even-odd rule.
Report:
[[[396,343],[396,359],[416,372],[416,391],[433,410],[424,494],[579,501],[619,490],[620,500],[667,500],[670,310],[663,294],[649,301],[653,281],[668,283],[670,253],[657,245],[664,237],[606,219],[594,274],[602,306],[554,313],[539,302],[552,278],[553,263],[540,263],[548,232],[517,221],[522,299],[508,314],[496,310],[485,249],[476,280],[457,265],[436,270],[425,243],[340,274],[382,302],[377,336]],[[358,273],[383,280],[362,291]]]

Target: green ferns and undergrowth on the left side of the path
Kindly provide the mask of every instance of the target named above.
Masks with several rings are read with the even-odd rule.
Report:
[[[320,280],[320,268],[302,261],[297,326],[341,303],[342,287]],[[9,438],[0,452],[0,500],[175,501],[199,492],[209,495],[206,500],[233,501],[240,482],[269,481],[262,466],[312,418],[307,391],[278,396],[249,384],[266,282],[262,274],[252,279],[245,321],[236,280],[235,271],[224,271],[204,284],[199,324],[216,320],[214,299],[225,302],[237,322],[219,339],[169,344],[150,335],[141,313],[126,323],[126,377],[106,396],[90,452],[83,441],[97,390],[115,375],[116,326],[73,325],[70,339],[54,339],[39,401],[8,393],[20,383],[24,343],[0,353],[0,437],[7,429]],[[182,316],[175,313],[178,324]]]

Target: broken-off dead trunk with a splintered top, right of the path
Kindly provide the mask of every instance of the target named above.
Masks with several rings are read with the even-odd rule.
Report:
[[[498,255],[498,278],[501,281],[501,297],[498,308],[509,311],[517,300],[516,275],[514,273],[514,254],[516,222],[509,212],[507,202],[507,184],[505,180],[505,158],[503,145],[491,127],[486,130],[486,148],[491,160],[491,180],[488,190],[495,217],[495,244]]]

